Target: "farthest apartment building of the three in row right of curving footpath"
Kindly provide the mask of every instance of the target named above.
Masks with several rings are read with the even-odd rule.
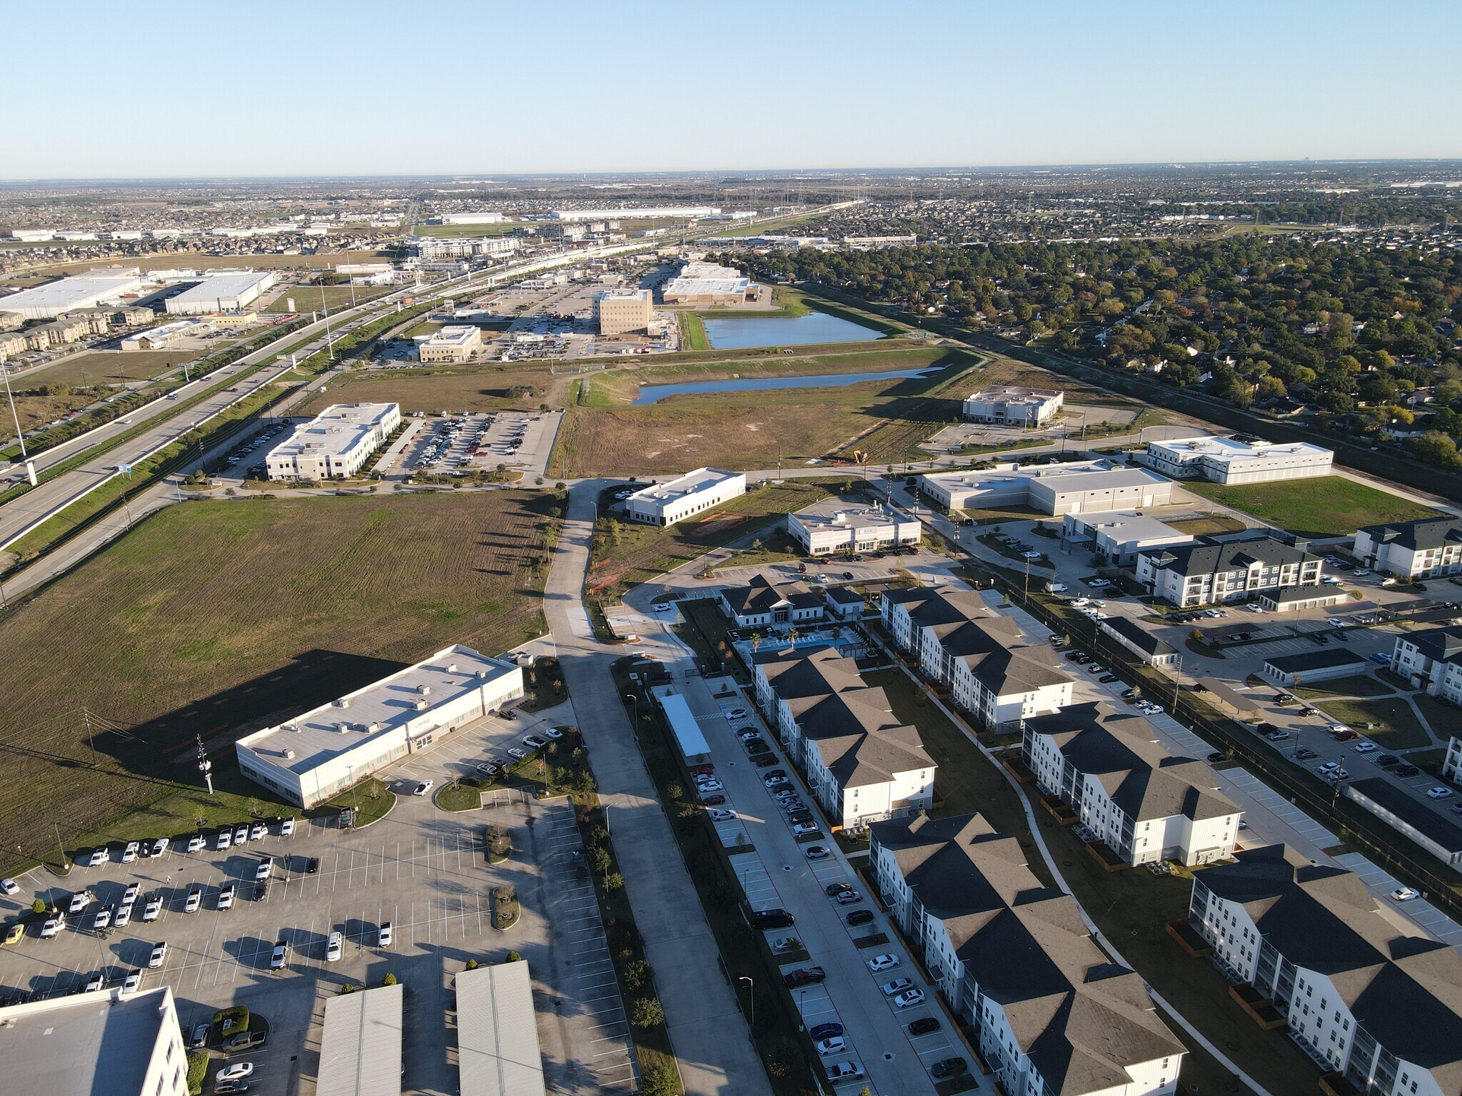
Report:
[[[918,655],[920,671],[949,687],[953,703],[999,728],[1072,703],[1075,684],[1045,643],[1031,643],[1013,618],[974,590],[885,590],[889,633]]]

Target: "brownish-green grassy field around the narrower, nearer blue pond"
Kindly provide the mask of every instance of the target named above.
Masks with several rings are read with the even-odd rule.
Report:
[[[589,406],[572,408],[560,446],[572,475],[661,475],[697,465],[773,468],[778,459],[789,466],[852,449],[870,452],[876,463],[902,460],[920,452],[921,440],[958,419],[969,378],[956,378],[977,361],[974,354],[934,346],[826,354],[781,364],[765,359],[730,371],[722,365],[699,378],[923,365],[942,371],[930,378],[890,377],[842,387],[671,396],[645,406],[627,405],[636,381],[697,377],[690,367],[674,373],[656,368],[635,380],[623,374],[591,377],[586,383],[592,392],[610,392],[610,406],[591,400]]]

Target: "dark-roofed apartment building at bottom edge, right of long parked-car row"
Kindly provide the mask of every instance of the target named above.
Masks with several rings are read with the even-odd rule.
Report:
[[[1091,938],[1015,837],[978,814],[870,827],[870,864],[909,947],[1012,1096],[1170,1096],[1183,1043],[1142,978]]]

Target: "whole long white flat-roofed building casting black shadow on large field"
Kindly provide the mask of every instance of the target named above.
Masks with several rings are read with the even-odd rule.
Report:
[[[520,696],[516,663],[455,644],[234,750],[244,776],[310,808]]]

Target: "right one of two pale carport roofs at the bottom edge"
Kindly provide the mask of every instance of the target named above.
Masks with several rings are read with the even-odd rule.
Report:
[[[528,963],[459,972],[456,1029],[462,1096],[542,1096],[544,1059]]]

